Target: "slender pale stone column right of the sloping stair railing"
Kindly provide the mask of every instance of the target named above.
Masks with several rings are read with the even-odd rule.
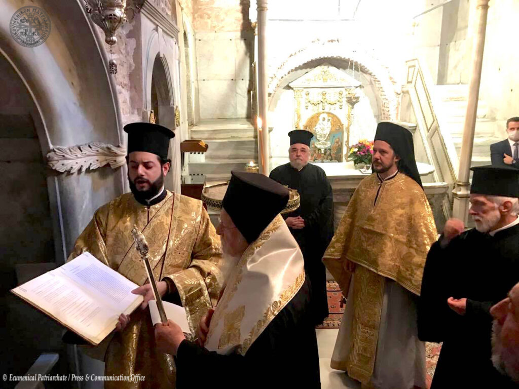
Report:
[[[470,163],[472,161],[472,147],[474,145],[477,101],[480,94],[481,68],[483,65],[483,49],[485,47],[488,1],[489,0],[477,0],[477,30],[474,37],[474,46],[472,50],[472,70],[469,82],[467,114],[465,115],[465,126],[463,127],[458,180],[453,190],[453,217],[463,220],[466,224],[469,216]]]

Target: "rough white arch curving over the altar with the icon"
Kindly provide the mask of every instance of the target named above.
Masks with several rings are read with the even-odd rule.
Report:
[[[395,120],[398,109],[398,93],[395,91],[393,78],[389,70],[377,59],[365,51],[352,50],[339,39],[313,40],[303,48],[292,52],[282,62],[271,67],[268,79],[269,109],[274,108],[276,92],[292,80],[290,74],[312,61],[337,59],[345,62],[355,61],[360,71],[370,76],[380,95],[381,119]]]

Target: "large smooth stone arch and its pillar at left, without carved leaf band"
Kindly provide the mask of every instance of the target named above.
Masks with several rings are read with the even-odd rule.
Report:
[[[117,93],[107,71],[104,37],[91,24],[82,3],[76,0],[56,7],[51,0],[40,0],[37,6],[48,14],[53,27],[45,43],[33,49],[20,46],[11,37],[9,17],[0,19],[0,54],[36,106],[33,118],[43,158],[54,146],[122,143]],[[4,15],[13,15],[24,5],[22,0],[0,0]],[[125,168],[49,174],[57,263],[64,262],[93,212],[124,192],[126,181]]]

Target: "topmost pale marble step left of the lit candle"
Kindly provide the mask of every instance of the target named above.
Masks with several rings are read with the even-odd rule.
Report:
[[[189,128],[190,138],[209,141],[211,139],[254,138],[256,129],[248,119],[201,120]]]

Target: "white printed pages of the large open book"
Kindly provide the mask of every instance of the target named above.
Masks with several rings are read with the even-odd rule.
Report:
[[[130,314],[143,301],[138,287],[90,253],[12,289],[93,344],[115,329],[121,313]]]

